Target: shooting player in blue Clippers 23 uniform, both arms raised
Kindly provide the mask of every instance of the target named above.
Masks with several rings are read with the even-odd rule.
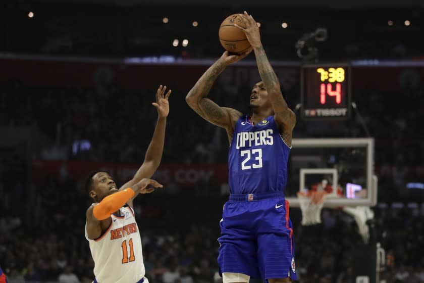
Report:
[[[289,205],[283,192],[296,116],[283,99],[255,20],[246,12],[242,19],[245,28],[238,28],[252,46],[262,79],[249,95],[252,114],[244,116],[207,98],[218,75],[251,50],[240,55],[224,52],[189,91],[186,101],[206,121],[225,128],[230,142],[231,195],[220,223],[218,256],[224,283],[249,282],[250,277],[290,282],[297,276]]]

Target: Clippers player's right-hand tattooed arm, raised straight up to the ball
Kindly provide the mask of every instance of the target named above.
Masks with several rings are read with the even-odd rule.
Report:
[[[242,28],[235,24],[238,28],[242,29],[246,34],[247,39],[253,47],[256,57],[256,64],[259,70],[260,78],[267,89],[272,106],[275,113],[275,120],[280,126],[280,133],[288,146],[291,146],[291,134],[296,124],[296,115],[287,106],[286,101],[281,93],[280,81],[271,67],[270,61],[260,41],[259,27],[256,21],[247,12],[242,14],[243,23],[246,28]]]

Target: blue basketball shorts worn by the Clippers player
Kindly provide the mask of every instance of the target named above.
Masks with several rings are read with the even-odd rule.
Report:
[[[230,195],[220,226],[221,274],[297,279],[293,226],[282,192]]]

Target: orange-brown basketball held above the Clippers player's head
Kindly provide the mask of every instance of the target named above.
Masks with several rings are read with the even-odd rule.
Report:
[[[219,32],[220,42],[228,52],[240,54],[250,47],[250,42],[244,32],[234,24],[245,27],[240,14],[233,14],[222,22]]]

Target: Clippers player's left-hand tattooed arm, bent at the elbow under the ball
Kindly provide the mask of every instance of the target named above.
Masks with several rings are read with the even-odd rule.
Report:
[[[207,98],[210,88],[221,72],[232,63],[235,63],[247,55],[252,50],[249,49],[240,55],[232,55],[228,51],[224,52],[206,72],[199,78],[193,88],[186,96],[187,104],[203,119],[214,125],[230,130],[234,127],[234,123],[242,115],[241,112],[227,107],[220,107],[215,102]]]

